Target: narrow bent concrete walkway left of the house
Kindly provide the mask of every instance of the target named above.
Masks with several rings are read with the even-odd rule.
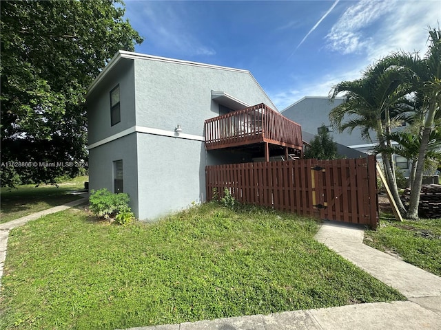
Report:
[[[9,231],[13,228],[18,227],[19,225],[23,225],[27,223],[28,221],[39,219],[40,217],[43,217],[43,215],[67,210],[68,208],[73,208],[74,206],[80,205],[88,201],[87,199],[88,192],[78,193],[76,195],[79,195],[83,198],[76,199],[75,201],[71,201],[70,203],[65,203],[63,205],[55,206],[54,208],[48,208],[47,210],[33,213],[25,217],[21,217],[19,219],[14,219],[6,223],[0,223],[0,287],[1,287],[1,276],[3,276],[3,265],[5,264],[5,260],[6,260],[6,248],[8,246]]]

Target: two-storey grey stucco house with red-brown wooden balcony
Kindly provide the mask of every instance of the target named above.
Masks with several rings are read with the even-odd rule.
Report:
[[[242,69],[120,51],[86,106],[89,187],[127,192],[139,219],[205,201],[207,165],[301,156],[300,125]]]

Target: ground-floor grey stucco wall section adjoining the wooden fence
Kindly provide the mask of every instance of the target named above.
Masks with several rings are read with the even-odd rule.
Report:
[[[201,141],[146,133],[138,138],[140,220],[154,220],[205,201],[205,146]]]

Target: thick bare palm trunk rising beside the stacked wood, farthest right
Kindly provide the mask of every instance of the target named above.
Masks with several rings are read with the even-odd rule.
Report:
[[[420,151],[418,153],[418,163],[416,167],[415,179],[413,179],[412,183],[411,196],[409,200],[409,210],[407,211],[408,219],[418,219],[418,206],[420,204],[422,175],[424,173],[424,160],[426,158],[427,145],[429,144],[429,137],[432,131],[433,120],[435,120],[436,109],[437,104],[435,100],[433,100],[429,109],[429,113],[427,115],[427,119],[424,122],[424,131],[422,131]]]

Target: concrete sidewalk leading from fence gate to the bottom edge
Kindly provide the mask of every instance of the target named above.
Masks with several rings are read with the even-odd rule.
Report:
[[[223,318],[130,330],[441,330],[441,278],[362,243],[364,231],[324,224],[316,239],[409,301]]]

